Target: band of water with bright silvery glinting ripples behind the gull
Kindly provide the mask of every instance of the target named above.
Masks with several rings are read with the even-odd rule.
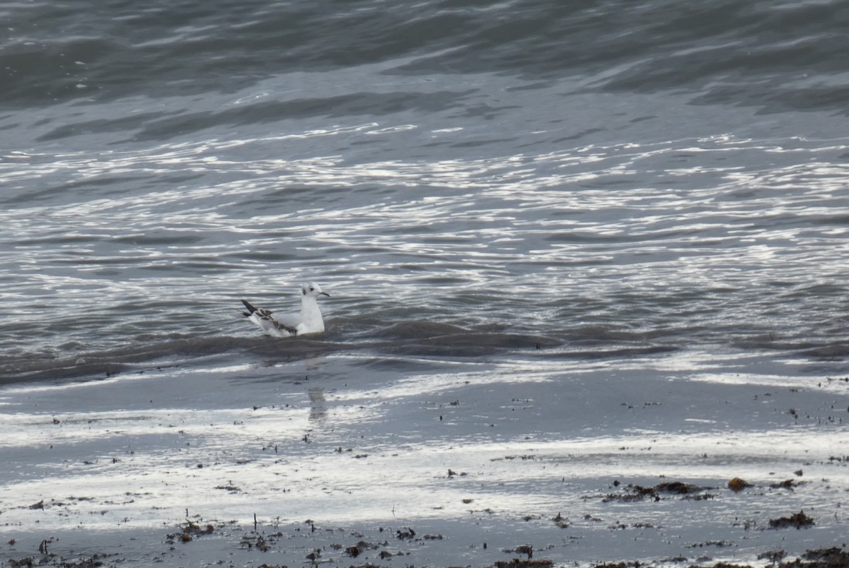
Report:
[[[380,297],[386,314],[462,310],[471,326],[555,336],[593,322],[677,343],[780,336],[807,345],[837,325],[823,300],[846,292],[849,226],[835,214],[849,180],[835,159],[843,142],[718,138],[436,162],[234,159],[234,149],[267,142],[4,159],[9,186],[65,180],[42,194],[52,203],[14,189],[3,198],[0,295],[16,314],[53,315],[9,343],[55,342],[59,332],[121,342],[116,326],[149,318],[163,333],[215,333],[223,316],[211,304],[251,290],[276,297],[307,276],[340,292],[328,311],[342,318],[376,309]],[[117,191],[151,175],[162,180]],[[56,198],[81,183],[86,191]],[[787,298],[789,282],[806,292]],[[160,298],[200,318],[116,307]],[[110,317],[91,317],[104,302]]]

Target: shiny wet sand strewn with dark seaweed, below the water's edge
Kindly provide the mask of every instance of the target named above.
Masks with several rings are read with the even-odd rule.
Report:
[[[844,558],[805,556],[849,534],[840,361],[561,355],[211,359],[3,387],[0,562]]]

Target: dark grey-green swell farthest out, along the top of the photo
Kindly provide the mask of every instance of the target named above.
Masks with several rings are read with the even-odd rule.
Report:
[[[131,3],[76,6],[56,10],[36,3],[8,10],[13,32],[0,53],[0,67],[9,70],[6,103],[244,92],[271,78],[297,81],[293,74],[373,66],[385,75],[579,77],[587,89],[686,89],[704,103],[845,110],[841,101],[847,87],[835,74],[845,70],[847,8],[836,1],[537,0],[478,6],[430,0],[386,10],[373,0],[330,11],[306,2],[273,7],[253,2],[235,20],[228,6],[214,2],[203,10],[185,3],[154,11]],[[24,30],[40,30],[41,36]],[[805,70],[802,79],[800,69]],[[284,105],[273,112],[351,115],[434,104],[413,93],[386,95],[391,98],[377,102],[368,100],[376,93],[305,94],[273,103]],[[256,114],[247,107],[230,112]],[[172,114],[155,113],[154,118],[166,123]],[[126,129],[127,121],[144,115],[111,120],[123,121]],[[181,120],[185,128],[196,129],[208,117],[188,114]],[[104,117],[90,127],[109,122]]]

